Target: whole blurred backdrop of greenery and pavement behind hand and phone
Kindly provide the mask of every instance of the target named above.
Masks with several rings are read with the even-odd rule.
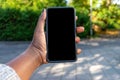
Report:
[[[42,10],[56,6],[76,9],[77,26],[85,27],[77,34],[82,54],[74,63],[42,65],[30,80],[120,80],[120,0],[0,0],[0,63],[28,47]]]

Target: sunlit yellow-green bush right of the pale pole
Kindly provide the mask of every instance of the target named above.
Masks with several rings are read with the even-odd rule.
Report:
[[[94,0],[94,2],[98,2]],[[102,0],[98,8],[93,7],[93,23],[103,29],[120,29],[120,7],[111,0]]]

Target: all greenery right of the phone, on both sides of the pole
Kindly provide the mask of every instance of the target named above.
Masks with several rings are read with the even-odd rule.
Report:
[[[90,0],[72,0],[70,3],[70,6],[76,8],[78,16],[77,25],[85,27],[85,32],[78,34],[79,36],[89,37],[90,27],[94,27],[94,25],[98,25],[102,30],[120,29],[120,3],[115,4],[115,0],[91,1],[92,6],[90,6]],[[92,8],[92,12],[90,12],[90,8]],[[90,16],[92,16],[91,21]]]

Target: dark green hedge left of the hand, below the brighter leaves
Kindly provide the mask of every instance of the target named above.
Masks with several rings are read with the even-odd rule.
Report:
[[[30,40],[39,14],[33,11],[0,9],[0,40]]]

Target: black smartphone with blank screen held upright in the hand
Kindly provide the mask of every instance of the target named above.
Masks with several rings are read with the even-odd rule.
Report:
[[[76,61],[74,8],[47,8],[46,12],[47,61]]]

